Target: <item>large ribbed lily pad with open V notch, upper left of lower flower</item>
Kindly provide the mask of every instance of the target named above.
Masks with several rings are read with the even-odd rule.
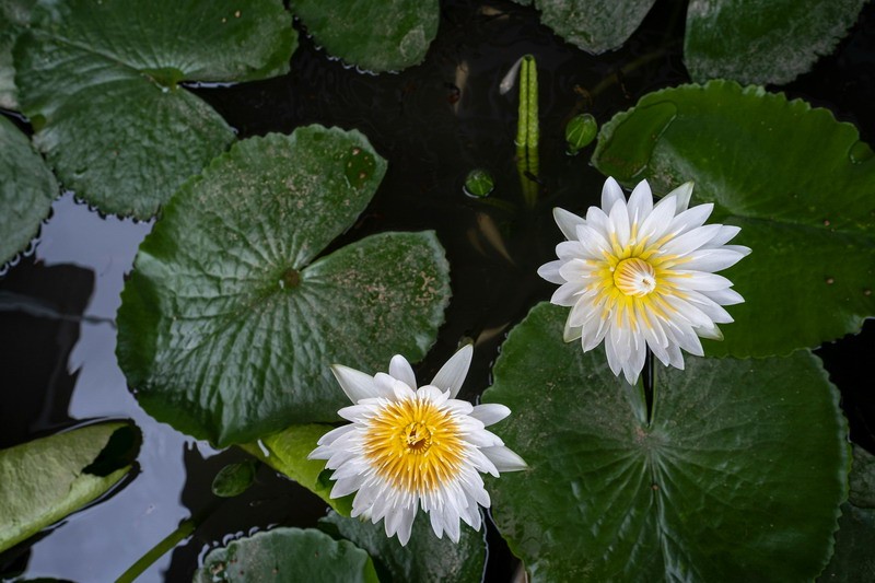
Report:
[[[329,365],[421,359],[443,322],[434,233],[382,233],[313,261],[386,163],[320,126],[234,145],[186,183],[140,245],[118,312],[118,360],[140,405],[220,446],[338,420]]]

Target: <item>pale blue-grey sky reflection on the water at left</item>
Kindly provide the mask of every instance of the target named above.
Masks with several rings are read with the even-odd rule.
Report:
[[[42,230],[37,261],[46,266],[74,264],[92,270],[95,287],[85,315],[105,320],[81,324],[68,362],[68,372],[79,374],[68,415],[74,419],[132,419],[143,432],[143,445],[138,456],[141,471],[124,490],[68,517],[33,546],[28,575],[113,581],[189,515],[180,494],[186,480],[183,453],[191,440],[140,409],[115,358],[112,322],[120,303],[124,276],[130,271],[137,247],[152,223],[102,219],[75,203],[70,195],[57,200],[52,210],[52,218]],[[95,525],[105,525],[105,529]],[[124,533],[124,540],[118,533]],[[162,581],[161,571],[170,559],[170,555],[163,557],[141,581]]]

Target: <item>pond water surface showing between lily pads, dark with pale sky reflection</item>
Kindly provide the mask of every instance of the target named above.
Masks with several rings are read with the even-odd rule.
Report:
[[[242,138],[291,132],[312,123],[363,131],[389,167],[373,202],[328,252],[368,234],[433,229],[452,266],[453,301],[436,345],[417,366],[430,378],[459,339],[476,340],[463,397],[489,383],[505,333],[552,285],[535,273],[553,258],[551,208],[582,212],[604,177],[592,147],[565,154],[565,121],[582,112],[602,124],[650,91],[688,81],[681,60],[682,3],[660,0],[616,53],[591,57],[510,2],[445,2],[436,40],[421,66],[400,74],[362,74],[330,60],[302,36],[283,78],[194,89]],[[854,123],[875,139],[875,4],[851,36],[815,70],[782,88]],[[522,55],[535,55],[540,85],[540,195],[523,202],[514,162],[515,91],[499,82]],[[100,120],[95,120],[100,123]],[[465,175],[489,170],[487,200],[463,194]],[[267,467],[245,494],[222,500],[210,483],[244,458],[158,423],[129,393],[114,354],[114,317],[125,273],[151,223],[103,218],[71,194],[54,205],[35,253],[0,278],[0,447],[83,420],[132,419],[143,433],[137,471],[101,503],[0,556],[4,578],[112,581],[180,521],[207,513],[194,536],[154,563],[142,581],[186,581],[207,549],[272,525],[308,527],[325,504]],[[818,352],[842,392],[852,439],[875,452],[872,358],[875,326]],[[508,581],[515,561],[494,529],[487,580]]]

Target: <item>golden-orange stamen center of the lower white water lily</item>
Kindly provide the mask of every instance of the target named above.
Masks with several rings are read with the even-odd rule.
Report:
[[[431,400],[390,403],[369,422],[364,455],[393,487],[425,493],[452,480],[463,465],[458,424]]]

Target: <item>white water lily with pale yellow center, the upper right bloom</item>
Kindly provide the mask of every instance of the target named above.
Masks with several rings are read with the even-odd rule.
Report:
[[[553,210],[568,241],[538,275],[560,284],[550,302],[571,307],[564,339],[580,338],[584,352],[605,340],[610,370],[630,384],[646,347],[663,364],[684,369],[680,349],[701,357],[699,337],[722,339],[716,325],[733,320],[721,306],[744,302],[728,279],[713,273],[750,253],[725,244],[740,229],[703,226],[714,206],[688,209],[691,194],[687,183],[654,206],[642,180],[627,202],[608,178],[602,208],[590,207],[586,219]]]

